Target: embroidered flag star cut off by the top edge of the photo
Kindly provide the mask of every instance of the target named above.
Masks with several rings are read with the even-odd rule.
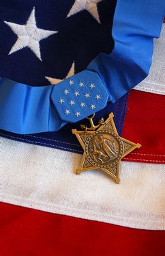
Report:
[[[95,20],[100,23],[100,17],[97,10],[97,3],[100,3],[102,0],[76,0],[74,5],[72,6],[70,12],[67,14],[67,18],[81,12],[83,10],[87,10]]]

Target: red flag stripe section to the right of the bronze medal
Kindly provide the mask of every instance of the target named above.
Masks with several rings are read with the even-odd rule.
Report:
[[[127,103],[123,138],[142,147],[123,160],[165,164],[165,97],[160,94],[132,90]]]

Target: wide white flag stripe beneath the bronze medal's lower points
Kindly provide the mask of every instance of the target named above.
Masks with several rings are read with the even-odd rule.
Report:
[[[165,229],[165,170],[122,162],[121,183],[100,170],[75,175],[81,155],[0,138],[0,200],[138,229]]]

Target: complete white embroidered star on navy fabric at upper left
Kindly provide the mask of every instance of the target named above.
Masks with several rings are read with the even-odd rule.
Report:
[[[15,51],[18,51],[25,47],[29,47],[31,51],[33,51],[33,53],[41,61],[42,61],[42,57],[40,52],[40,43],[39,43],[40,40],[44,38],[48,38],[48,36],[51,36],[58,32],[58,31],[39,29],[37,27],[36,20],[35,20],[35,8],[33,8],[27,20],[27,24],[25,25],[11,23],[8,21],[4,21],[4,22],[12,29],[14,34],[18,36],[9,54],[12,54]]]

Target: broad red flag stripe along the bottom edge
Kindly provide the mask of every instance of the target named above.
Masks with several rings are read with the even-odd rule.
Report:
[[[0,204],[0,255],[162,256],[165,231],[130,229]]]

